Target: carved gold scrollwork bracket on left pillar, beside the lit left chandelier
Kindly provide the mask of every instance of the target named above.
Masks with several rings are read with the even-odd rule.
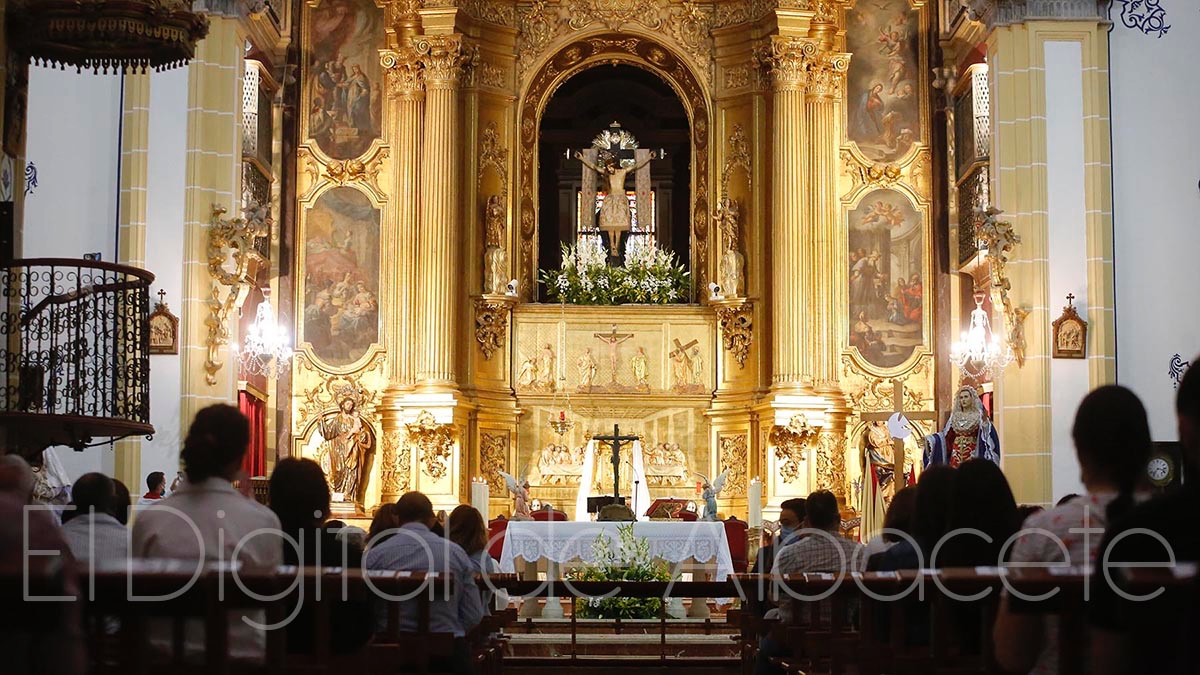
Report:
[[[217,371],[224,365],[221,346],[229,341],[229,328],[226,325],[229,313],[246,299],[259,268],[269,264],[260,251],[265,249],[264,240],[271,235],[274,225],[268,208],[258,204],[247,207],[245,217],[223,219],[224,213],[223,207],[212,207],[208,231],[209,276],[214,285],[212,294],[205,300],[209,316],[204,319],[208,328],[204,380],[210,386],[217,383]],[[227,288],[224,298],[221,297],[221,286]]]

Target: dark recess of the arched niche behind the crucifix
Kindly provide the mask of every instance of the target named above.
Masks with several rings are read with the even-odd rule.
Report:
[[[638,232],[690,261],[691,133],[674,90],[653,72],[632,65],[599,65],[554,91],[541,117],[538,147],[538,265],[558,267],[562,244],[576,241],[582,209],[582,165],[574,153],[592,145],[611,125],[658,154],[649,165],[652,209],[636,205]],[[646,211],[653,213],[646,213]],[[628,241],[626,241],[628,243]],[[539,300],[546,289],[539,283]]]

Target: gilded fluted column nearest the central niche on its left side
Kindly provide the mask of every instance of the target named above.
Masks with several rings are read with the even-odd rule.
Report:
[[[416,41],[425,66],[425,129],[420,162],[420,227],[416,232],[418,335],[415,377],[422,389],[457,389],[460,269],[457,143],[458,79],[464,64],[462,36]]]

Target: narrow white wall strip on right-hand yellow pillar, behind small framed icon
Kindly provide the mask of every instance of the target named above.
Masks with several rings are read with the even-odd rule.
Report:
[[[1057,317],[1068,293],[1087,316],[1087,205],[1084,190],[1084,71],[1079,42],[1045,43],[1046,222],[1049,223],[1050,306]],[[1049,330],[1049,327],[1044,327]],[[1045,358],[1045,357],[1042,357]],[[1091,389],[1087,362],[1050,360],[1051,492],[1058,501],[1084,492],[1070,428]]]

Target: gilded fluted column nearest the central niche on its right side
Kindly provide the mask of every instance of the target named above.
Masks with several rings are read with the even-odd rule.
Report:
[[[764,60],[773,79],[772,132],[772,389],[800,389],[811,383],[805,371],[805,305],[811,264],[805,244],[809,210],[808,121],[804,90],[808,60],[816,43],[774,36]]]

